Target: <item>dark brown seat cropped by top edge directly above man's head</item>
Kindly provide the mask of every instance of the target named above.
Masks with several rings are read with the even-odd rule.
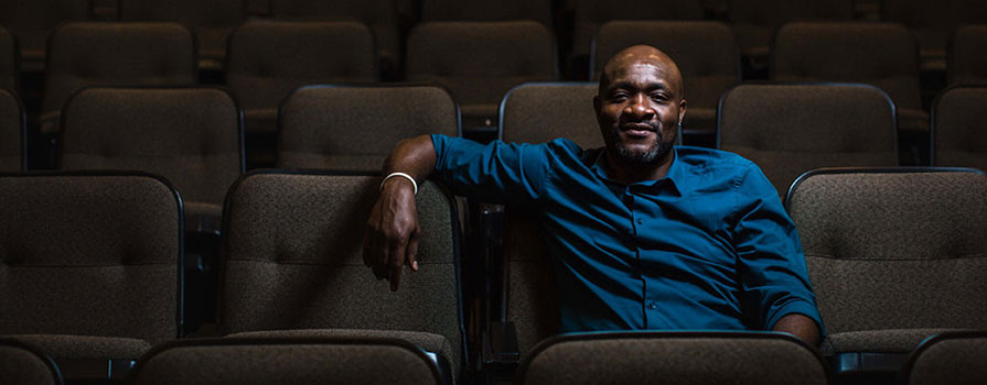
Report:
[[[600,25],[613,20],[700,20],[700,0],[635,0],[624,1],[620,7],[603,0],[575,0],[572,16],[573,55],[589,55],[590,46]]]

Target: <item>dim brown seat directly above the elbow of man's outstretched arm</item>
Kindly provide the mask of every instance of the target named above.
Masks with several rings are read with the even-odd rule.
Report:
[[[555,38],[534,21],[420,23],[408,35],[408,80],[447,87],[465,133],[494,133],[504,94],[555,80],[557,67]]]

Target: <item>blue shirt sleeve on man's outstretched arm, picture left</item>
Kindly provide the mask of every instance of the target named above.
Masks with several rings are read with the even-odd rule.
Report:
[[[525,205],[541,195],[550,167],[545,144],[516,144],[432,135],[433,177],[461,196],[489,204]]]

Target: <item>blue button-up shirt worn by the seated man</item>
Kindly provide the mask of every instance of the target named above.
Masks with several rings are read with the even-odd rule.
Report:
[[[771,330],[788,314],[822,331],[795,226],[739,155],[675,146],[664,178],[625,185],[601,150],[568,140],[432,143],[435,176],[457,195],[534,209],[564,332]]]

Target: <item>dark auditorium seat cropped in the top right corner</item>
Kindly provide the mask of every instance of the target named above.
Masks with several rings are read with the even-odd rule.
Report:
[[[956,26],[987,23],[987,2],[976,0],[882,0],[881,20],[901,23],[919,42],[923,70],[946,68],[946,47]]]

